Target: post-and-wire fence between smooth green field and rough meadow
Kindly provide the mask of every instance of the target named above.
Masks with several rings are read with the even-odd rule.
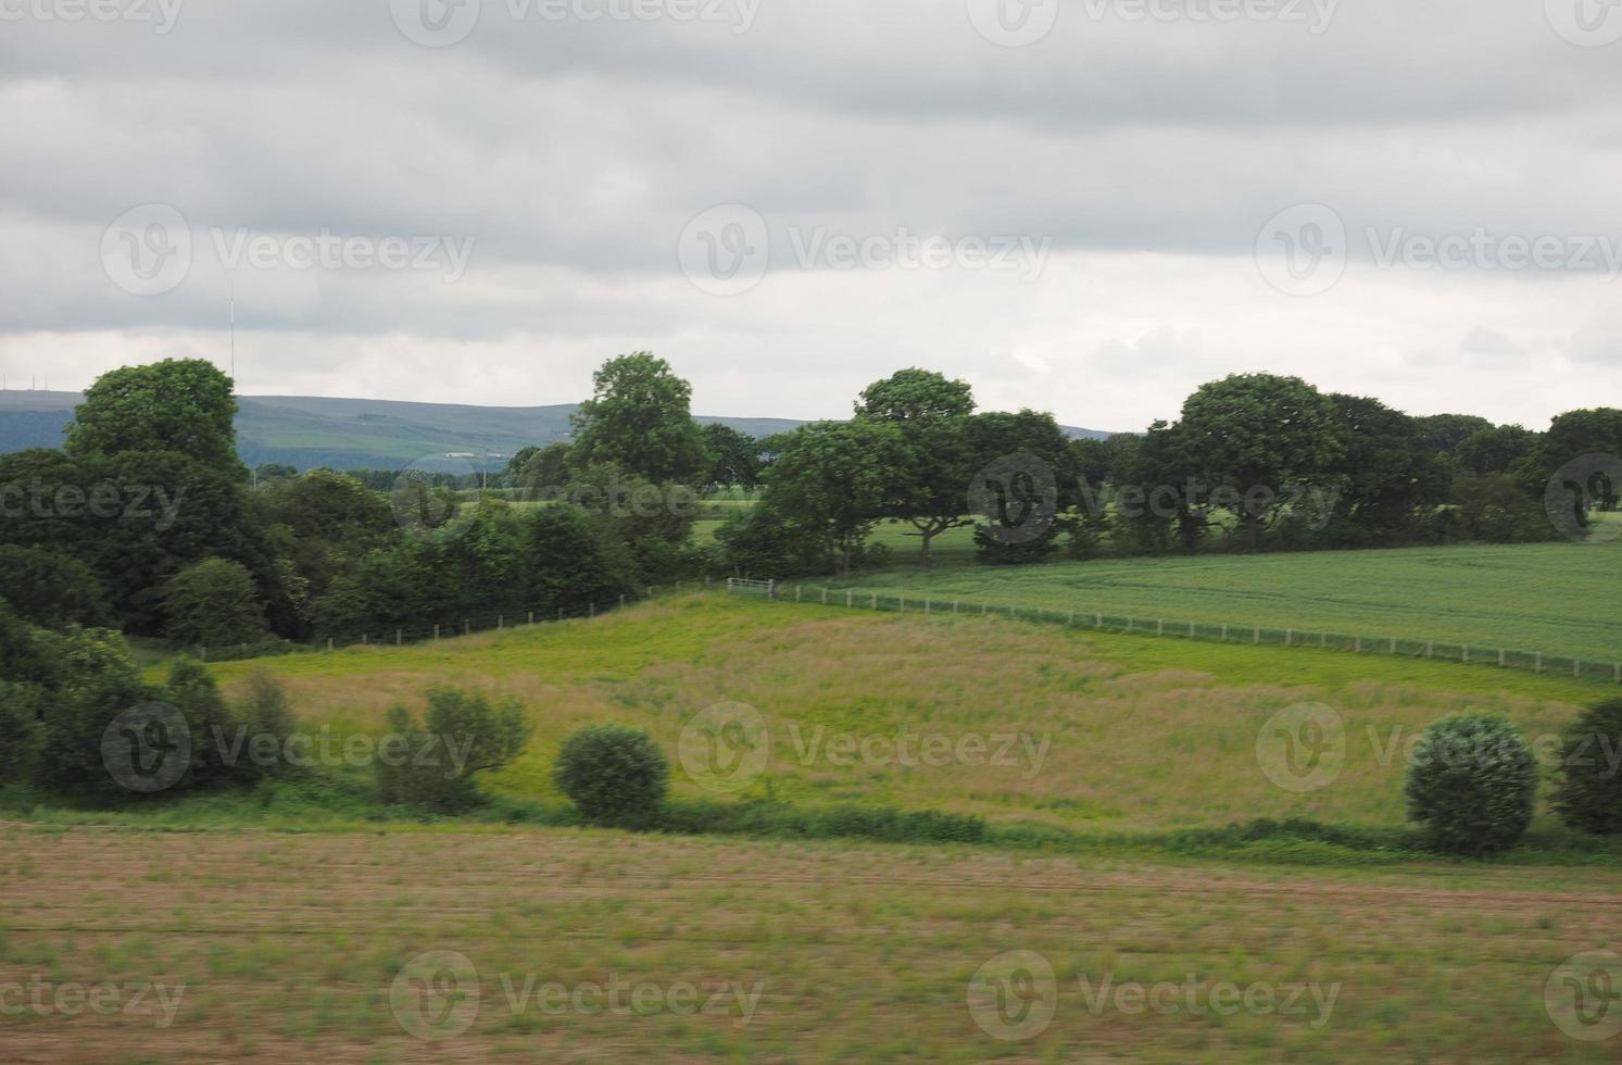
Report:
[[[1009,617],[1028,622],[1049,622],[1092,632],[1131,633],[1137,636],[1166,636],[1176,640],[1205,640],[1212,643],[1241,643],[1252,646],[1325,648],[1353,654],[1384,654],[1390,658],[1434,659],[1466,666],[1494,666],[1497,669],[1523,669],[1538,674],[1554,674],[1578,680],[1601,680],[1622,685],[1622,661],[1599,662],[1591,659],[1546,654],[1543,651],[1517,651],[1484,645],[1444,643],[1439,640],[1408,640],[1403,636],[1358,636],[1332,633],[1317,628],[1265,628],[1260,625],[1231,625],[1215,622],[1181,622],[1163,617],[1129,617],[1096,610],[1054,610],[1043,607],[989,606],[960,599],[918,599],[907,596],[881,596],[845,588],[821,588],[805,584],[777,584],[772,581],[727,581],[730,594],[753,594],[793,602],[814,602],[842,609],[865,609],[892,614],[957,614],[981,617]]]

